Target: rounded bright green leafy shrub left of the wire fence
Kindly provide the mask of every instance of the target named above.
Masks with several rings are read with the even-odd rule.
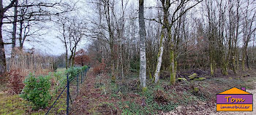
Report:
[[[20,97],[32,103],[33,108],[45,108],[50,100],[50,76],[29,74],[24,81],[25,87]]]

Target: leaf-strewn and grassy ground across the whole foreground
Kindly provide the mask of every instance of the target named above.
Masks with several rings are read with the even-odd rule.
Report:
[[[138,74],[111,81],[108,74],[94,74],[90,69],[85,82],[80,86],[78,97],[70,106],[70,114],[255,114],[253,112],[216,112],[216,94],[231,87],[246,87],[247,92],[256,93],[255,70],[230,72],[229,76],[216,74],[208,76],[208,71],[199,69],[181,71],[178,77],[186,78],[196,73],[205,76],[204,81],[178,82],[169,84],[169,77],[161,75],[159,84],[148,79],[148,90],[141,92]],[[249,75],[249,76],[248,76]],[[4,84],[1,84],[4,85]],[[5,87],[5,86],[4,86]],[[47,108],[31,110],[27,102],[18,95],[9,95],[1,87],[0,114],[45,114]],[[256,99],[254,95],[254,99]],[[256,100],[254,100],[256,105]],[[255,106],[254,106],[255,107]],[[50,114],[64,114],[65,97],[57,102]]]

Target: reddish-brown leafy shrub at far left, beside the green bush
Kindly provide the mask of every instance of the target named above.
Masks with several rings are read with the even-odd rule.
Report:
[[[19,70],[12,70],[9,73],[7,73],[7,77],[8,79],[8,84],[7,87],[9,87],[8,92],[10,92],[10,94],[19,94],[24,87],[23,84],[23,79],[24,76],[20,75],[20,71]]]

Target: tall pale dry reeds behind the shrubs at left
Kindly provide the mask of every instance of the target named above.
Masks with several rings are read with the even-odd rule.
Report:
[[[30,72],[35,75],[46,75],[53,71],[53,57],[15,49],[13,57],[7,61],[7,68],[19,70],[22,76],[26,76]]]

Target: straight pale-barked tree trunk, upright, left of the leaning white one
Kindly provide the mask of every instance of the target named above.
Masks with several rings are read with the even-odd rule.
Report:
[[[140,26],[140,86],[146,90],[146,28],[144,21],[144,0],[139,1]]]

